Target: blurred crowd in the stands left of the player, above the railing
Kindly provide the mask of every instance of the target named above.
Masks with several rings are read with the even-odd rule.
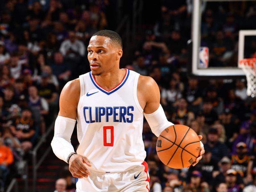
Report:
[[[0,1],[0,191],[58,111],[63,86],[89,69],[86,47],[108,26],[105,1]]]

